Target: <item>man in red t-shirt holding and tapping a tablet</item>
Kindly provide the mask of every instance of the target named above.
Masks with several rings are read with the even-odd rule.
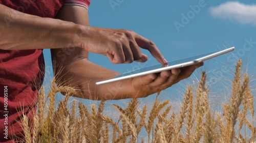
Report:
[[[32,121],[36,94],[44,79],[42,49],[51,48],[59,85],[79,89],[76,97],[92,100],[146,97],[187,78],[203,65],[95,86],[95,82],[119,73],[91,63],[88,52],[103,54],[113,64],[145,62],[148,58],[141,47],[161,64],[166,60],[152,41],[135,32],[90,27],[89,5],[89,0],[0,0],[0,92],[8,94],[8,98],[0,96],[0,142],[12,142],[12,135],[23,136],[19,126],[23,113]],[[115,94],[107,90],[117,86]],[[4,106],[6,102],[8,106]],[[6,122],[8,137],[4,134]]]

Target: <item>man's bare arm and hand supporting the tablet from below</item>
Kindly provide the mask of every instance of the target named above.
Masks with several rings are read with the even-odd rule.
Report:
[[[78,6],[63,7],[57,18],[74,23],[89,25],[88,12]],[[100,43],[100,41],[99,41]],[[102,45],[104,47],[104,45]],[[79,89],[79,98],[93,100],[111,100],[124,98],[140,98],[164,90],[178,81],[188,77],[201,64],[182,69],[150,74],[119,82],[95,85],[96,82],[114,77],[120,73],[105,69],[88,60],[88,52],[79,48],[51,49],[55,75],[59,85],[71,85]],[[61,55],[61,56],[60,56]]]

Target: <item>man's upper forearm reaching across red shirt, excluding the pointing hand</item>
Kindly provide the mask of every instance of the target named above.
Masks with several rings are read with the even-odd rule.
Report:
[[[18,12],[0,4],[0,49],[24,50],[78,46],[80,25]],[[75,45],[74,45],[75,44]]]

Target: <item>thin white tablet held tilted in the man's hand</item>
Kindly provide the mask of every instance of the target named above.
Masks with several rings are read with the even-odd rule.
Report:
[[[197,55],[197,56],[192,56],[190,58],[185,58],[185,59],[181,59],[181,60],[177,60],[177,61],[168,62],[168,64],[166,64],[166,65],[158,64],[158,65],[154,65],[154,66],[148,66],[145,68],[136,69],[134,71],[120,74],[112,79],[96,82],[96,84],[100,85],[100,84],[110,83],[110,82],[119,81],[119,80],[123,80],[123,79],[134,78],[134,77],[143,76],[143,75],[147,75],[147,74],[159,73],[161,71],[167,71],[167,70],[171,70],[171,69],[178,69],[178,68],[182,68],[182,67],[186,67],[186,66],[190,66],[190,65],[195,65],[197,63],[209,60],[211,58],[215,58],[216,56],[225,54],[225,53],[233,51],[233,50],[234,50],[234,47],[231,47],[231,48],[221,50],[221,51],[205,53],[205,54],[201,54],[201,55]]]

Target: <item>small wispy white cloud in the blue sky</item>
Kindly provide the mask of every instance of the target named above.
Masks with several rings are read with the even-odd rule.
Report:
[[[218,7],[211,7],[210,13],[214,17],[235,20],[240,24],[256,25],[256,5],[227,2]]]

